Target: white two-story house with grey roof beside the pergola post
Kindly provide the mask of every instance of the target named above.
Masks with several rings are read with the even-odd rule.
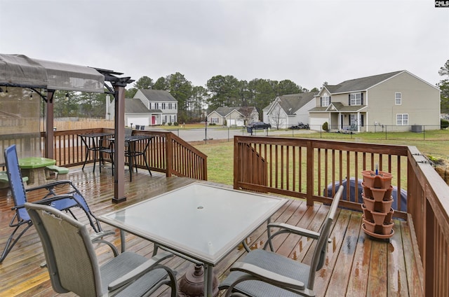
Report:
[[[111,106],[114,114],[114,104]],[[125,99],[125,125],[165,125],[177,122],[177,100],[166,90],[138,90]]]

